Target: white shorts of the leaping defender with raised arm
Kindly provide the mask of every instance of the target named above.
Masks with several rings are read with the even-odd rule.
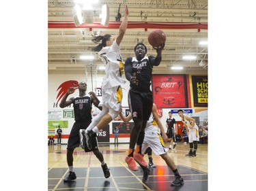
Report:
[[[122,104],[122,97],[121,86],[107,89],[102,88],[102,101],[100,101],[99,106],[119,111]]]

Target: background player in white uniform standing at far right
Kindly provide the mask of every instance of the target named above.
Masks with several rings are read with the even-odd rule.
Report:
[[[198,126],[195,123],[195,119],[190,118],[189,116],[185,116],[182,109],[179,109],[177,111],[177,114],[182,118],[182,122],[186,126],[186,131],[188,132],[188,143],[190,150],[186,156],[197,156],[197,141],[199,141],[199,135],[198,135]],[[194,151],[193,151],[194,146]]]

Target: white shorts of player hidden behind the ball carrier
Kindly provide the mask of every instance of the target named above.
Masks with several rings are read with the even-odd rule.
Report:
[[[149,128],[149,127],[147,127]],[[141,153],[145,153],[147,147],[150,147],[154,154],[161,155],[165,154],[165,143],[162,137],[155,131],[145,132],[144,141],[141,147]]]

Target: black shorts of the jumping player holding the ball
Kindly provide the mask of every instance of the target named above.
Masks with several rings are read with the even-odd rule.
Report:
[[[129,90],[128,103],[132,120],[149,120],[153,107],[153,93]]]

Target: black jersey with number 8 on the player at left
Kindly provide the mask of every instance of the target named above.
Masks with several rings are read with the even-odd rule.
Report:
[[[83,120],[91,120],[91,97],[85,95],[84,97],[75,97],[73,100],[74,106],[74,120],[76,122]]]

